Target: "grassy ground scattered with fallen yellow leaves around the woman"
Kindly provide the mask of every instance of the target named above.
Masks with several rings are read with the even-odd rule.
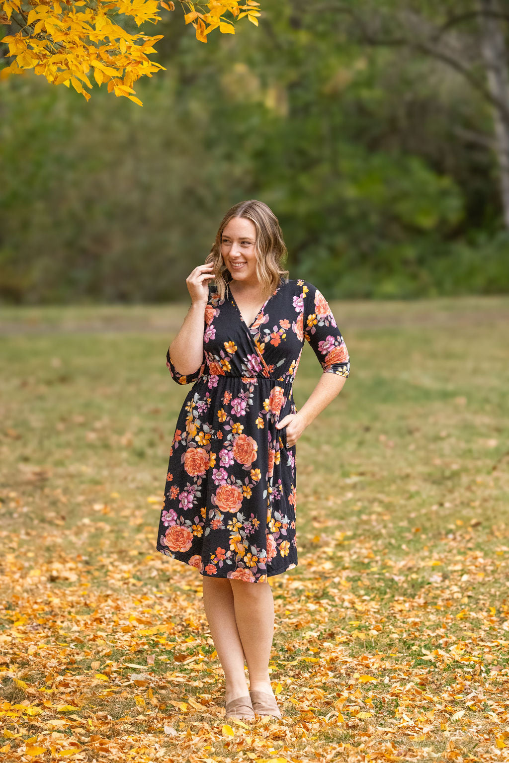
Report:
[[[230,724],[201,577],[154,549],[182,307],[0,310],[6,761],[509,759],[509,300],[332,307],[352,372],[270,578],[283,718]]]

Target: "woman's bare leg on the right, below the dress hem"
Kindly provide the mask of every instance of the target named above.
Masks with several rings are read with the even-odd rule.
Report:
[[[232,580],[235,620],[250,671],[250,689],[272,694],[269,658],[274,636],[274,599],[269,583]]]

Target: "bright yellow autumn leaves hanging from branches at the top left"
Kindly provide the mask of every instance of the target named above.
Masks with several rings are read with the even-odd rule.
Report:
[[[203,43],[214,29],[235,34],[241,18],[257,25],[260,14],[255,0],[243,5],[239,0],[177,3],[187,11],[185,24],[195,27],[196,39]],[[89,100],[93,77],[108,92],[141,106],[133,85],[165,68],[148,57],[163,35],[131,34],[118,17],[130,16],[140,27],[146,21],[157,24],[162,10],[175,7],[164,0],[0,0],[0,24],[18,29],[2,38],[13,60],[0,70],[0,79],[34,69],[53,85],[72,86]]]

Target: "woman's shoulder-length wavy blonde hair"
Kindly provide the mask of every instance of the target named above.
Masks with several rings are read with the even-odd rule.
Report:
[[[240,201],[227,211],[221,220],[216,240],[210,254],[205,259],[205,264],[213,263],[216,291],[221,300],[224,299],[231,274],[221,256],[221,237],[224,228],[233,217],[245,217],[256,227],[256,275],[262,287],[262,298],[265,301],[269,299],[282,279],[288,280],[290,274],[288,270],[281,267],[286,256],[288,256],[281,226],[272,209],[263,201],[257,201],[255,198],[249,201]]]

